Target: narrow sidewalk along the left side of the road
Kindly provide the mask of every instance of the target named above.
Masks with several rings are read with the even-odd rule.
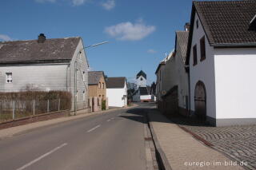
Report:
[[[134,108],[137,105],[133,105],[130,107],[126,107],[126,108],[118,108],[118,109],[108,109],[108,110],[104,110],[104,111],[99,111],[99,112],[94,112],[94,113],[85,113],[84,110],[79,110],[77,112],[76,116],[70,116],[70,117],[60,117],[60,118],[56,118],[56,119],[51,119],[48,121],[38,121],[38,122],[34,122],[34,123],[30,123],[27,125],[20,125],[20,126],[15,126],[12,128],[4,128],[0,130],[0,140],[6,138],[6,137],[11,137],[14,136],[15,134],[18,134],[20,132],[24,132],[33,128],[41,128],[44,126],[48,126],[48,125],[54,125],[54,124],[58,124],[58,123],[62,123],[65,121],[71,121],[71,120],[75,120],[75,119],[79,119],[82,117],[90,117],[92,115],[97,115],[97,114],[102,114],[102,113],[109,113],[112,111],[117,111],[117,110],[122,110],[122,109],[130,109],[130,108]]]

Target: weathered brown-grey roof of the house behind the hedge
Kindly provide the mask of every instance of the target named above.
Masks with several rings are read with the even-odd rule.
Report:
[[[70,61],[81,38],[0,42],[0,64]]]

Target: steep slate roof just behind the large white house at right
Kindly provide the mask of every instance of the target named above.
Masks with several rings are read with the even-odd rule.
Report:
[[[186,61],[186,49],[187,42],[189,39],[189,31],[176,31],[176,45],[180,46],[182,61],[185,63]]]

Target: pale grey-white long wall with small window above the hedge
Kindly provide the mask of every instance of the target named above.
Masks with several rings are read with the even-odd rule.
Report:
[[[12,73],[12,83],[6,83],[6,73]],[[43,91],[67,90],[66,73],[67,64],[0,66],[0,91],[24,91],[27,85]]]

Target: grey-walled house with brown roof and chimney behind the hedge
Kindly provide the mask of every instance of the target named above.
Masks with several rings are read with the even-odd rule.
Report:
[[[0,92],[65,90],[72,93],[74,110],[77,91],[76,107],[86,109],[88,67],[82,38],[40,34],[38,40],[0,42]]]

